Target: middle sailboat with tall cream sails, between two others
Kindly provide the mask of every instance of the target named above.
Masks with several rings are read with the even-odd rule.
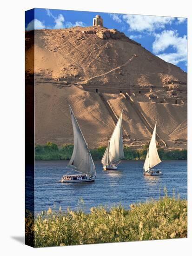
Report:
[[[113,130],[113,134],[108,142],[106,151],[101,160],[104,170],[116,170],[118,168],[120,160],[124,158],[122,137],[122,115],[123,110]]]

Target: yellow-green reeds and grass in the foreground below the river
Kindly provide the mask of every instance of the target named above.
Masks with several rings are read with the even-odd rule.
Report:
[[[114,243],[187,237],[187,201],[167,195],[159,201],[61,211],[48,209],[35,218],[26,215],[26,242],[35,230],[35,247]]]

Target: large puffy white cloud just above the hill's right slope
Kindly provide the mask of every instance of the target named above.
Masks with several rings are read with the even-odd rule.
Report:
[[[168,47],[174,52],[163,53]],[[152,44],[153,53],[158,54],[164,61],[177,65],[179,62],[187,61],[187,37],[179,36],[177,31],[164,30],[161,34],[155,34],[155,41]]]

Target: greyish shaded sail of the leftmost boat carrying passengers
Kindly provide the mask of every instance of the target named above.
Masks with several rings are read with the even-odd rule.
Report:
[[[90,176],[96,175],[95,165],[86,140],[79,128],[79,124],[70,105],[69,108],[73,124],[74,148],[67,167]]]

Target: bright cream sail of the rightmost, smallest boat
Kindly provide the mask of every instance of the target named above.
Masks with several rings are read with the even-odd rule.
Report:
[[[154,167],[155,165],[157,165],[158,163],[161,162],[159,155],[158,155],[158,151],[157,151],[157,147],[156,147],[156,125],[157,122],[155,123],[155,127],[152,133],[152,139],[150,141],[149,144],[149,148],[147,150],[147,155],[146,155],[146,160],[144,163],[143,168],[145,169],[145,171],[148,171],[150,168]]]

